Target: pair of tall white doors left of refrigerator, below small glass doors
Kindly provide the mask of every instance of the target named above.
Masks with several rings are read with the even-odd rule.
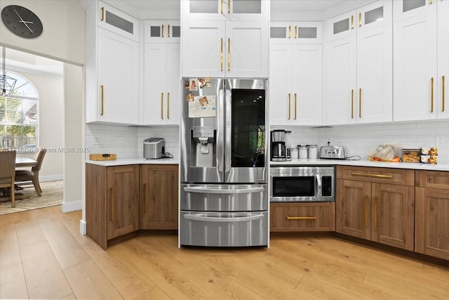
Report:
[[[180,45],[146,43],[144,46],[143,123],[180,123]]]

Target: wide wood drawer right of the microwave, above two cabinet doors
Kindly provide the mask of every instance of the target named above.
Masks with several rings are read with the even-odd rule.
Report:
[[[376,183],[415,185],[415,170],[337,166],[337,178]]]

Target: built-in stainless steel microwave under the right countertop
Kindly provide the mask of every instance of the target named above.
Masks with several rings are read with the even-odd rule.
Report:
[[[334,167],[271,167],[270,202],[335,202]]]

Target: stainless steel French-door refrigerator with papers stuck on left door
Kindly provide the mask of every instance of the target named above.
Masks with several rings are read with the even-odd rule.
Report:
[[[180,244],[266,246],[267,81],[193,80],[183,79]]]

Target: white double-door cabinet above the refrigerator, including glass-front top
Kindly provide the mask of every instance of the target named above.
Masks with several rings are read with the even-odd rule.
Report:
[[[254,2],[262,11],[269,9],[265,0],[232,0],[230,7],[246,2],[251,8]],[[220,13],[204,12],[208,4],[217,4]],[[227,7],[226,1],[223,6]],[[239,18],[222,18],[220,1],[182,1],[181,11],[182,77],[268,77],[268,17],[262,20],[257,13],[257,18],[251,18],[253,13],[246,11]]]

